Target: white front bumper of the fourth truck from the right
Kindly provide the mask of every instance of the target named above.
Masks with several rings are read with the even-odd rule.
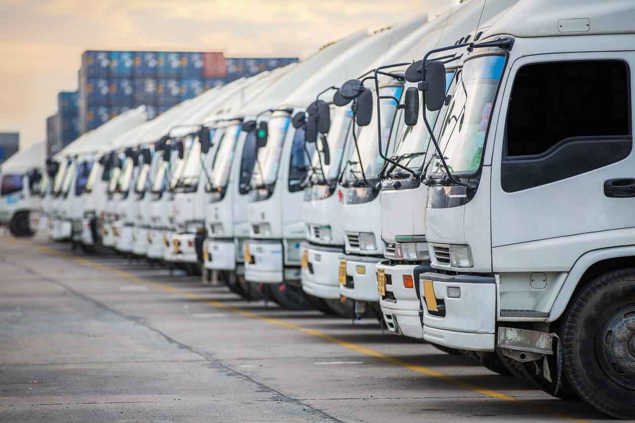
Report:
[[[314,297],[338,299],[340,284],[338,274],[340,259],[344,253],[342,247],[326,247],[311,245],[307,242],[300,244],[302,261],[302,290]]]

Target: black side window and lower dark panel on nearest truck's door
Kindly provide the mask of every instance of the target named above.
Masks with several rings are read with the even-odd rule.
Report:
[[[632,147],[630,99],[624,62],[520,68],[507,112],[502,188],[525,190],[627,157]]]

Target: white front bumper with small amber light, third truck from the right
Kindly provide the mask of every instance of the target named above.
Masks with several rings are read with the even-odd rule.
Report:
[[[357,301],[379,301],[376,267],[384,258],[342,254],[339,259],[346,261],[346,284],[340,285],[340,295]]]

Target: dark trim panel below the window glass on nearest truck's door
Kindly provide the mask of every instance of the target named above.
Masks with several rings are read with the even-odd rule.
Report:
[[[571,178],[625,159],[632,137],[574,136],[535,156],[507,157],[500,168],[504,192],[518,192]]]

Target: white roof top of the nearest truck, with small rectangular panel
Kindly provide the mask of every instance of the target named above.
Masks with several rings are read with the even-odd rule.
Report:
[[[554,37],[635,33],[634,0],[521,0],[484,36]]]

